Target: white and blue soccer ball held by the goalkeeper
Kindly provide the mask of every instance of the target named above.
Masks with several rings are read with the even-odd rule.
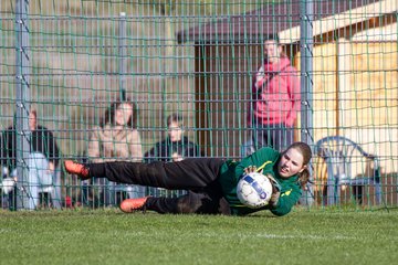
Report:
[[[249,208],[262,208],[269,204],[272,195],[272,183],[259,172],[243,176],[237,186],[240,202]]]

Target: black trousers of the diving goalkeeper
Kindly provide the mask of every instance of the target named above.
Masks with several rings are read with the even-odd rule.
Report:
[[[190,158],[178,162],[90,163],[90,174],[111,181],[169,190],[188,190],[179,198],[149,198],[148,210],[159,213],[230,214],[230,208],[217,181],[224,161],[214,158]]]

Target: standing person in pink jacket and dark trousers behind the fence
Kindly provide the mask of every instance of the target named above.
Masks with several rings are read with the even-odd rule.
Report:
[[[253,76],[248,124],[255,149],[271,146],[281,151],[293,142],[301,98],[298,74],[277,35],[264,41],[264,64]]]

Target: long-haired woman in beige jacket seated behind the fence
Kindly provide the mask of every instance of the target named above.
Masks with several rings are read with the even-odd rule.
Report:
[[[140,162],[143,160],[142,140],[137,130],[136,104],[126,100],[116,100],[105,112],[100,126],[95,127],[88,144],[88,160],[93,163],[109,161]],[[93,176],[96,177],[96,176]],[[102,179],[103,181],[104,179]],[[101,183],[101,202],[116,203],[116,194],[112,191],[118,186]],[[109,188],[112,188],[109,190]],[[129,190],[133,188],[129,187]],[[135,191],[142,190],[135,187]],[[130,194],[132,195],[132,194]]]

